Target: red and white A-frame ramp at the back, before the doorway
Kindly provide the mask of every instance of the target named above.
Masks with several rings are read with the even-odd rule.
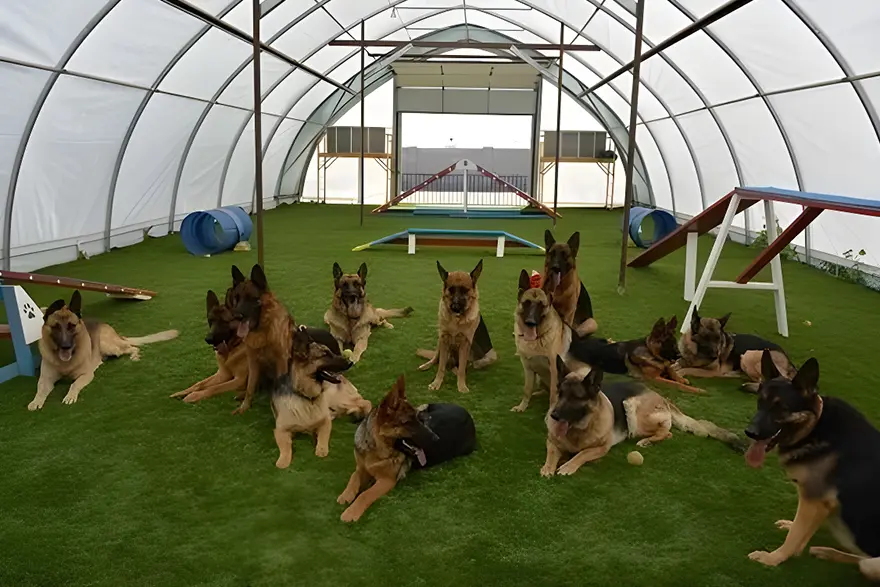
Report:
[[[464,176],[462,182],[462,205],[455,208],[445,207],[429,207],[419,205],[414,207],[399,207],[399,204],[418,192],[424,191],[426,188],[441,180],[442,178],[459,171]],[[493,183],[499,185],[504,190],[525,200],[526,205],[523,208],[481,206],[479,208],[470,205],[468,202],[468,174],[477,173],[484,177],[488,177]],[[453,218],[559,218],[560,214],[551,208],[548,208],[532,196],[528,195],[513,184],[505,181],[501,177],[492,173],[485,167],[470,161],[469,159],[461,159],[456,161],[449,167],[438,171],[420,184],[413,186],[398,196],[395,196],[388,202],[382,204],[375,210],[373,214],[382,212],[406,212],[414,215],[430,215],[430,216],[451,216]]]

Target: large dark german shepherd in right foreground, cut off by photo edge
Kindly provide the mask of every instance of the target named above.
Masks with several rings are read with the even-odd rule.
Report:
[[[760,467],[774,448],[798,492],[794,521],[782,546],[749,558],[776,566],[801,554],[823,522],[847,552],[814,546],[810,554],[856,563],[880,581],[880,431],[836,397],[819,395],[819,362],[808,359],[793,377],[781,375],[772,351],[761,353],[758,406],[746,428],[746,461]]]

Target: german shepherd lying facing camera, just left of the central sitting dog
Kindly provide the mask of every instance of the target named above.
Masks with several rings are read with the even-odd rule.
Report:
[[[324,322],[344,349],[353,349],[351,360],[357,363],[367,350],[370,333],[376,326],[394,328],[388,318],[405,318],[413,309],[375,308],[367,299],[367,264],[361,263],[357,273],[343,273],[339,263],[333,263],[333,303],[324,314]]]

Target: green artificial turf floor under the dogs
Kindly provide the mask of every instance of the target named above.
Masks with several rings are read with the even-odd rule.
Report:
[[[149,302],[86,293],[85,313],[124,335],[166,328],[181,335],[145,347],[139,363],[105,364],[72,406],[61,403],[66,384],[36,413],[26,409],[35,379],[0,386],[0,585],[867,584],[855,567],[808,556],[776,569],[748,560],[752,550],[781,544],[774,521],[794,515],[795,491],[775,456],[752,470],[717,441],[676,433],[643,449],[641,467],[627,464],[635,448],[628,441],[573,477],[540,477],[547,395],[524,414],[509,411],[523,382],[512,336],[517,277],[522,268],[540,268],[540,253],[351,252],[410,226],[503,229],[541,243],[549,221],[368,214],[360,228],[356,207],[299,204],[268,212],[265,225],[269,283],[299,322],[322,323],[334,261],[346,271],[369,264],[368,293],[377,306],[415,308],[410,318],[393,320],[394,330],[373,333],[349,376],[373,402],[404,373],[413,402],[461,403],[476,421],[478,452],[411,473],[360,522],[345,525],[336,497],[354,466],[353,423],[334,424],[323,460],[311,439],[299,437],[293,465],[280,471],[265,396],[241,416],[231,414],[232,394],[194,406],[168,398],[214,371],[203,342],[205,291],[225,291],[230,265],[249,269],[255,252],[196,258],[175,235],[46,268],[155,289],[160,295]],[[579,271],[600,333],[621,340],[646,334],[658,316],[683,317],[687,304],[683,249],[630,270],[627,291],[618,295],[619,226],[619,212],[565,210],[556,235],[580,230]],[[702,262],[711,241],[700,242]],[[733,278],[754,255],[728,245],[718,278]],[[417,370],[422,361],[414,350],[435,344],[435,259],[469,271],[480,256],[481,309],[500,359],[468,375],[468,395],[456,391],[451,374],[430,392],[433,372]],[[785,347],[798,364],[816,356],[822,391],[845,397],[876,422],[877,293],[803,265],[785,263],[783,271],[791,329]],[[29,291],[41,305],[69,296]],[[730,330],[782,341],[769,292],[710,291],[703,314],[728,311]],[[695,417],[745,427],[755,401],[738,391],[738,381],[694,382],[710,394],[664,393]],[[836,545],[824,530],[813,544]]]

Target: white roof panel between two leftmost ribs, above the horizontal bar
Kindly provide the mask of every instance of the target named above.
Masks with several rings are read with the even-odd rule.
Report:
[[[68,69],[151,85],[204,23],[156,0],[125,0],[95,27]]]

